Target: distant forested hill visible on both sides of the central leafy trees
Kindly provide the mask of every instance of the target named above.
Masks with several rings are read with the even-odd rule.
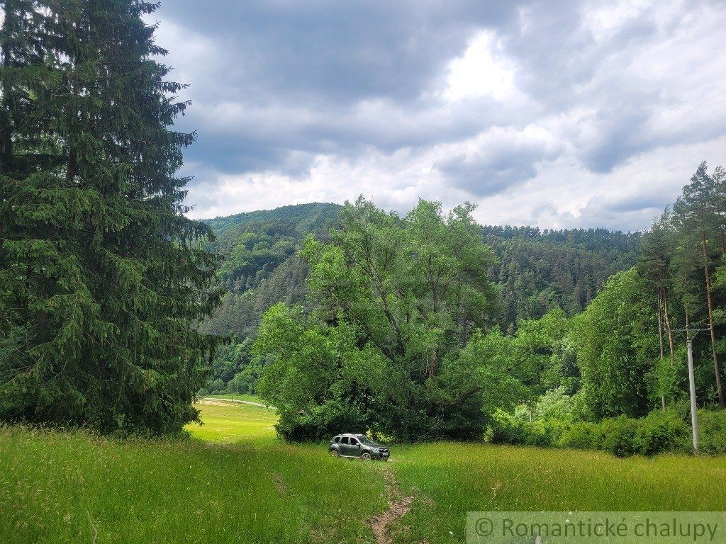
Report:
[[[201,328],[234,336],[231,347],[219,348],[208,382],[212,390],[226,389],[249,366],[250,340],[266,310],[277,302],[309,308],[308,265],[298,253],[308,234],[327,239],[330,229],[340,226],[341,209],[312,203],[206,221],[218,236],[208,250],[225,258],[219,283],[227,294]],[[608,277],[635,265],[640,233],[486,226],[483,241],[495,257],[487,269],[495,290],[494,320],[511,335],[519,321],[541,318],[553,308],[563,308],[567,316],[581,312]],[[242,384],[245,390],[255,382],[251,370],[246,372],[234,387]]]

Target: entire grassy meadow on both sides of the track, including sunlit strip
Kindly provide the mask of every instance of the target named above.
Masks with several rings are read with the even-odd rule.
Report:
[[[192,440],[0,428],[0,543],[370,543],[387,476],[414,497],[399,544],[460,543],[470,510],[726,510],[726,458],[442,442],[360,463],[280,442],[266,408],[199,407]]]

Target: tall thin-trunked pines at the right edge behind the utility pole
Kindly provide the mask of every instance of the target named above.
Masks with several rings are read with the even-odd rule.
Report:
[[[696,337],[699,359],[710,358],[709,384],[720,408],[726,407],[722,367],[726,304],[726,170],[709,175],[703,162],[672,207],[643,239],[638,271],[652,304],[658,308],[661,399],[666,404],[676,384],[677,345]]]

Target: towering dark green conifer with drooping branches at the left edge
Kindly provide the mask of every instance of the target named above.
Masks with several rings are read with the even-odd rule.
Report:
[[[158,434],[197,417],[217,260],[184,217],[195,134],[171,130],[188,104],[152,60],[155,8],[5,2],[0,419]]]

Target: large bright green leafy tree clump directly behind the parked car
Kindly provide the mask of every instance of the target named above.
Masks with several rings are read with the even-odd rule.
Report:
[[[476,332],[494,294],[472,209],[444,216],[421,201],[399,218],[361,198],[329,242],[308,238],[314,314],[273,307],[255,345],[269,360],[259,390],[285,437],[343,424],[405,440],[481,435],[484,397],[507,379]]]

